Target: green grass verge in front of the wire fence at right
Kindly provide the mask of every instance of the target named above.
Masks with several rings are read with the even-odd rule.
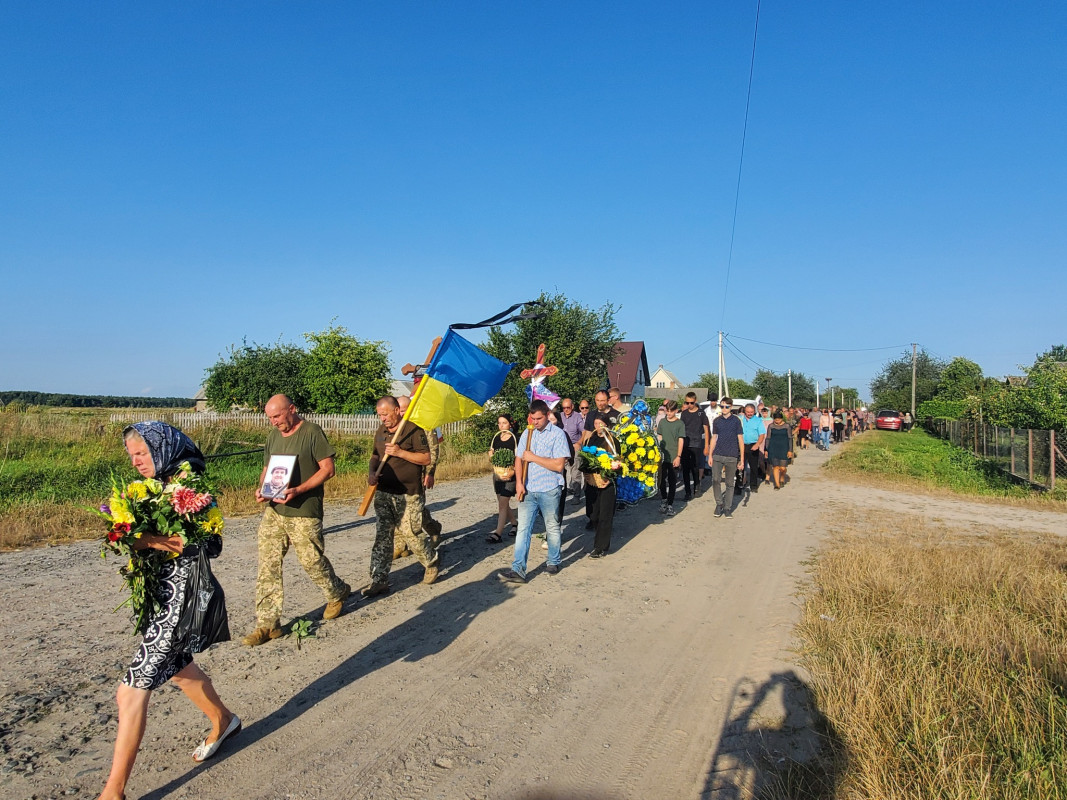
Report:
[[[871,431],[847,443],[826,464],[838,478],[882,486],[909,486],[978,498],[1007,499],[1067,510],[1067,480],[1055,493],[1020,485],[949,442],[914,429]]]

